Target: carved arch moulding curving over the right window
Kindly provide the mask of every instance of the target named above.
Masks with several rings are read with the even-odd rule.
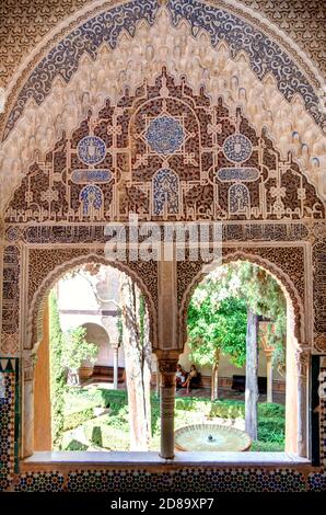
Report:
[[[222,264],[231,263],[232,261],[248,261],[254,263],[266,272],[268,272],[280,285],[287,302],[290,302],[291,309],[294,314],[294,336],[299,342],[305,342],[305,328],[304,328],[304,306],[303,301],[295,288],[291,277],[284,273],[280,266],[277,266],[271,261],[268,261],[257,254],[251,253],[251,249],[243,250],[231,250],[223,254]],[[191,299],[193,293],[196,287],[201,283],[203,277],[213,270],[216,265],[212,263],[202,264],[199,272],[193,276],[193,279],[188,283],[188,286],[183,295],[179,308],[179,324],[181,324],[181,347],[183,348],[187,341],[187,310]]]

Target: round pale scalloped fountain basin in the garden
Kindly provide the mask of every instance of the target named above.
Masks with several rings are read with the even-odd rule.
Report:
[[[193,424],[176,430],[176,450],[248,450],[252,439],[247,433],[218,424]]]

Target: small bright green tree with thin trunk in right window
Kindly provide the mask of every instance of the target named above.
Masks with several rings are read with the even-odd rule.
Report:
[[[203,286],[205,289],[205,286]],[[200,297],[200,295],[199,295]],[[218,398],[220,356],[238,367],[246,356],[246,305],[229,297],[220,302],[208,295],[202,302],[193,297],[188,310],[188,344],[191,358],[200,366],[211,366],[211,399]]]

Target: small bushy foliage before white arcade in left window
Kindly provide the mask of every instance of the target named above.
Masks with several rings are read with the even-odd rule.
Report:
[[[61,366],[78,370],[84,360],[96,362],[98,345],[86,341],[86,329],[79,327],[63,333]]]

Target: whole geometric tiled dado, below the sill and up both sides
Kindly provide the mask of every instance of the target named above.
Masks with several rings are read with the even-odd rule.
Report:
[[[321,373],[326,371],[321,359]],[[165,467],[67,469],[14,473],[18,451],[18,359],[0,358],[0,490],[18,492],[301,492],[326,491],[324,467]],[[322,374],[321,374],[322,378]],[[321,465],[325,466],[326,404],[321,403]],[[12,482],[13,480],[13,482]]]

